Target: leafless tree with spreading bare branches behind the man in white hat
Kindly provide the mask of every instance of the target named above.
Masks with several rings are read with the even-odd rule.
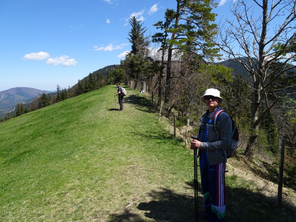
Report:
[[[272,108],[296,109],[287,103],[295,94],[295,0],[239,0],[220,35],[213,40],[224,59],[239,62],[252,77],[250,136],[244,155],[252,157],[259,123]]]

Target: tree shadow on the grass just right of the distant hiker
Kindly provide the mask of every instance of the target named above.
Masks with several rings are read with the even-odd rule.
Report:
[[[151,105],[150,99],[146,99],[144,96],[130,94],[123,98],[123,106],[124,104],[135,105],[137,110],[141,110],[143,112],[155,112],[154,108]]]

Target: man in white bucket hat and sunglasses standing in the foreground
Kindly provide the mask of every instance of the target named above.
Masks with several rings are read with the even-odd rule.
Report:
[[[200,157],[200,177],[205,211],[204,213],[199,212],[199,215],[207,221],[223,222],[225,221],[227,160],[225,149],[231,142],[232,122],[229,115],[222,112],[215,127],[212,123],[212,117],[215,112],[221,110],[219,104],[223,101],[219,90],[207,89],[201,101],[207,105],[208,109],[202,115],[198,139],[194,139],[190,146],[190,149],[198,149]]]

